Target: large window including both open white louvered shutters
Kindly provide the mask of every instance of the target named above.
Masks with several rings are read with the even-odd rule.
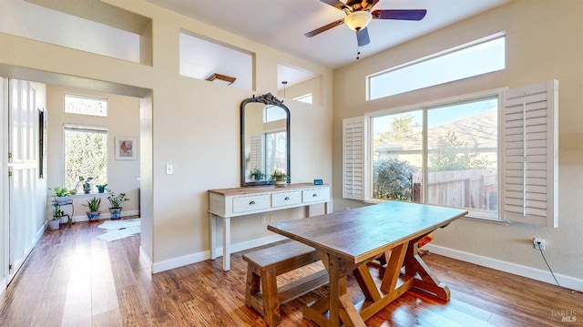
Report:
[[[345,118],[343,198],[465,208],[470,218],[557,228],[557,96],[551,80]]]

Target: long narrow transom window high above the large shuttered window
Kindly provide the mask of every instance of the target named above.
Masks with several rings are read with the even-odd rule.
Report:
[[[368,77],[368,99],[394,96],[505,68],[506,35],[487,36]]]

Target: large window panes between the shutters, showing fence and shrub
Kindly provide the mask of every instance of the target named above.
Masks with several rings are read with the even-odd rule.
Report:
[[[498,98],[482,97],[373,117],[372,198],[496,219],[497,112]]]

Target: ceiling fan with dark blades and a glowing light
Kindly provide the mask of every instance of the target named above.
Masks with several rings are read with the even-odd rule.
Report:
[[[373,19],[396,19],[396,20],[422,20],[427,14],[425,9],[378,9],[371,13],[371,9],[379,0],[320,0],[326,5],[332,5],[342,10],[346,16],[328,25],[314,29],[304,36],[312,37],[327,31],[335,26],[346,24],[350,29],[356,31],[358,46],[366,46],[371,43],[366,26]]]

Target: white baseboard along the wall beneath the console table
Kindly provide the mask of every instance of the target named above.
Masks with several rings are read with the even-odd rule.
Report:
[[[261,239],[247,240],[240,243],[235,243],[230,245],[231,252],[239,252],[240,250],[248,250],[261,245],[273,243],[279,240],[285,240],[286,238],[281,235],[272,235],[264,237]],[[217,249],[217,253],[222,256],[222,247]],[[157,273],[160,271],[169,271],[174,268],[179,268],[186,266],[188,264],[205,261],[210,259],[210,250],[205,250],[198,253],[189,254],[179,258],[173,258],[167,261],[155,262],[152,265],[152,273]]]

